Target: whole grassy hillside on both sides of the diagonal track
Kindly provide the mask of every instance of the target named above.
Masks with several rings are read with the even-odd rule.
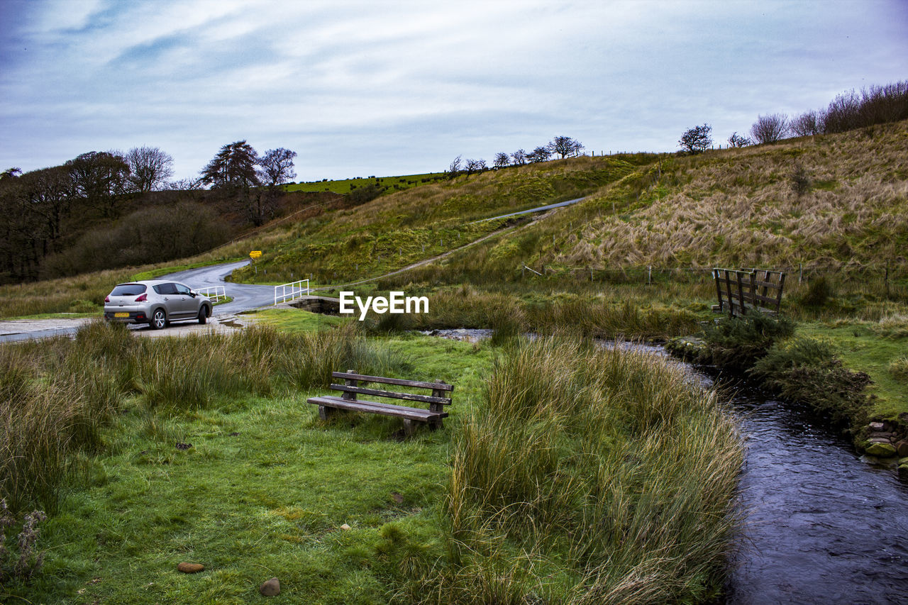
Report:
[[[257,277],[336,283],[387,273],[506,225],[473,221],[580,195],[587,200],[524,219],[446,263],[485,274],[514,273],[523,263],[903,266],[908,122],[694,156],[573,158],[426,184],[272,237],[259,265],[267,277]],[[253,271],[237,279],[251,281]]]

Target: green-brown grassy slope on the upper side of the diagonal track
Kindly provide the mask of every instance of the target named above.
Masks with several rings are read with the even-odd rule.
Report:
[[[234,278],[258,275],[275,282],[312,274],[316,282],[327,283],[397,269],[474,241],[504,223],[474,221],[593,193],[654,159],[580,157],[391,193],[297,224],[278,241],[271,240],[257,270]]]

